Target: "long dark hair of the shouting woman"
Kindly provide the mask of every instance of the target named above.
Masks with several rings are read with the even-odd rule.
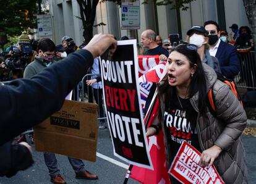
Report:
[[[205,112],[205,99],[207,98],[207,81],[205,72],[203,70],[202,61],[197,53],[196,46],[182,43],[171,49],[170,53],[173,51],[179,52],[186,56],[189,60],[190,68],[194,67],[195,64],[197,65],[197,70],[195,70],[193,77],[190,78],[190,84],[188,88],[189,98],[192,98],[192,96],[194,96],[198,92],[198,110],[200,113]],[[162,97],[164,97],[165,105],[170,106],[171,102],[176,96],[176,88],[169,85],[168,75],[164,76],[160,84],[161,85],[158,85],[158,98],[161,99]],[[164,110],[165,109],[161,109],[161,107],[159,109],[158,118],[160,120],[163,119],[162,111]],[[196,123],[196,116],[193,115],[193,111],[194,109],[187,109],[188,119],[190,119],[190,123],[192,123],[191,126],[194,129]]]

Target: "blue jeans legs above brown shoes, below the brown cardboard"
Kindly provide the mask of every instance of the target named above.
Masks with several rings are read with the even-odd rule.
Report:
[[[60,174],[55,154],[44,153],[43,156],[45,157],[45,164],[48,167],[50,177],[54,177]],[[83,164],[82,160],[70,157],[67,158],[69,159],[69,163],[72,165],[75,173],[85,172],[85,165]]]

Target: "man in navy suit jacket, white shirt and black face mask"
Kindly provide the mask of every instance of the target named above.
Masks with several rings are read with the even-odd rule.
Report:
[[[224,77],[234,80],[234,77],[239,73],[239,60],[237,57],[236,48],[231,44],[224,43],[220,38],[220,29],[218,23],[209,20],[204,23],[205,30],[209,38],[210,55],[218,58],[221,68],[221,73]]]

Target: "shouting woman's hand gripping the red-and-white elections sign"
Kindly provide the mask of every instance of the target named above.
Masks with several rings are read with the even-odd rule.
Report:
[[[222,149],[219,146],[211,146],[211,148],[208,148],[205,151],[203,151],[198,164],[202,165],[203,167],[213,165],[213,162],[220,155],[221,151]]]

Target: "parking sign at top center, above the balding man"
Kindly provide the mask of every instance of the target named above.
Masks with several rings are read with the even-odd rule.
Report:
[[[140,29],[140,1],[122,0],[122,30]]]

